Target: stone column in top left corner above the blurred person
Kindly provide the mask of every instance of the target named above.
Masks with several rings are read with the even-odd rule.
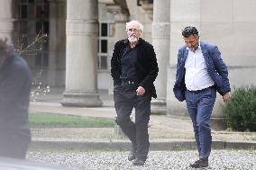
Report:
[[[14,17],[13,1],[0,1],[0,38],[7,38],[9,43],[13,43]]]

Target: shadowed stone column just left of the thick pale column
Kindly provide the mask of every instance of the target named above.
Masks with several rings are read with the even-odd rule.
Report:
[[[65,85],[66,1],[50,0],[48,85]]]

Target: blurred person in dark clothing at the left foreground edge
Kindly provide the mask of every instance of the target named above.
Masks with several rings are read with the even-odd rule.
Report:
[[[0,157],[26,156],[31,72],[7,40],[0,39]]]

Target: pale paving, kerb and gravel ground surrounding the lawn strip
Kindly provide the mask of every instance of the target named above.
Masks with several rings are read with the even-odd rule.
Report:
[[[59,104],[63,90],[54,89],[53,93],[39,97],[40,102],[30,104],[30,111],[114,119],[113,99],[105,91],[100,92],[103,107],[71,108]],[[188,118],[151,115],[149,130],[151,151],[142,167],[132,166],[126,160],[128,152],[123,150],[130,148],[130,142],[116,139],[114,128],[32,129],[32,148],[27,159],[73,169],[189,169],[189,163],[197,158],[197,149]],[[256,133],[213,130],[212,136],[215,141],[206,169],[256,170]],[[233,148],[250,149],[230,150]],[[109,149],[112,151],[105,151]]]

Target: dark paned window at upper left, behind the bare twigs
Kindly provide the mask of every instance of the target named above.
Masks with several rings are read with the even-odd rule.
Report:
[[[49,35],[49,1],[48,0],[19,0],[19,35],[23,47],[31,44],[38,34]],[[49,41],[42,40],[36,47],[34,54],[24,54],[34,61],[35,67],[48,67],[49,65]]]

